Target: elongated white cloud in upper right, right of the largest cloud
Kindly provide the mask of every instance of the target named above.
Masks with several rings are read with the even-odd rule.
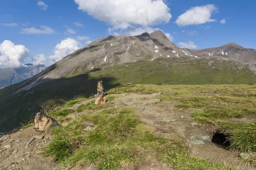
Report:
[[[181,14],[177,20],[176,24],[178,26],[189,26],[189,25],[199,25],[207,22],[214,22],[216,20],[211,19],[211,15],[214,11],[217,11],[214,5],[209,4],[206,6],[196,6],[190,8],[184,14]]]

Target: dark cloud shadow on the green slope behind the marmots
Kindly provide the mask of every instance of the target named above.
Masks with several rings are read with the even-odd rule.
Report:
[[[59,99],[69,100],[74,96],[89,97],[97,92],[97,82],[102,80],[104,91],[119,86],[114,77],[91,77],[90,74],[80,74],[75,77],[48,79],[28,91],[21,91],[0,102],[0,132],[8,132],[20,125],[24,120],[33,119],[41,105],[58,102]]]

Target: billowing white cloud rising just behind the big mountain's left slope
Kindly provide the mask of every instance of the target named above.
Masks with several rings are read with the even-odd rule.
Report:
[[[62,40],[60,43],[58,43],[55,46],[53,50],[55,55],[49,56],[50,63],[53,64],[55,62],[58,62],[63,57],[66,57],[67,55],[73,53],[79,48],[81,48],[81,44],[72,38],[67,38],[66,40]]]

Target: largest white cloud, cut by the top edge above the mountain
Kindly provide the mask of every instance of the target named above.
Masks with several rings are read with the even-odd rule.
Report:
[[[114,28],[168,23],[170,8],[163,0],[74,0],[78,9]],[[154,12],[152,12],[154,11]]]

